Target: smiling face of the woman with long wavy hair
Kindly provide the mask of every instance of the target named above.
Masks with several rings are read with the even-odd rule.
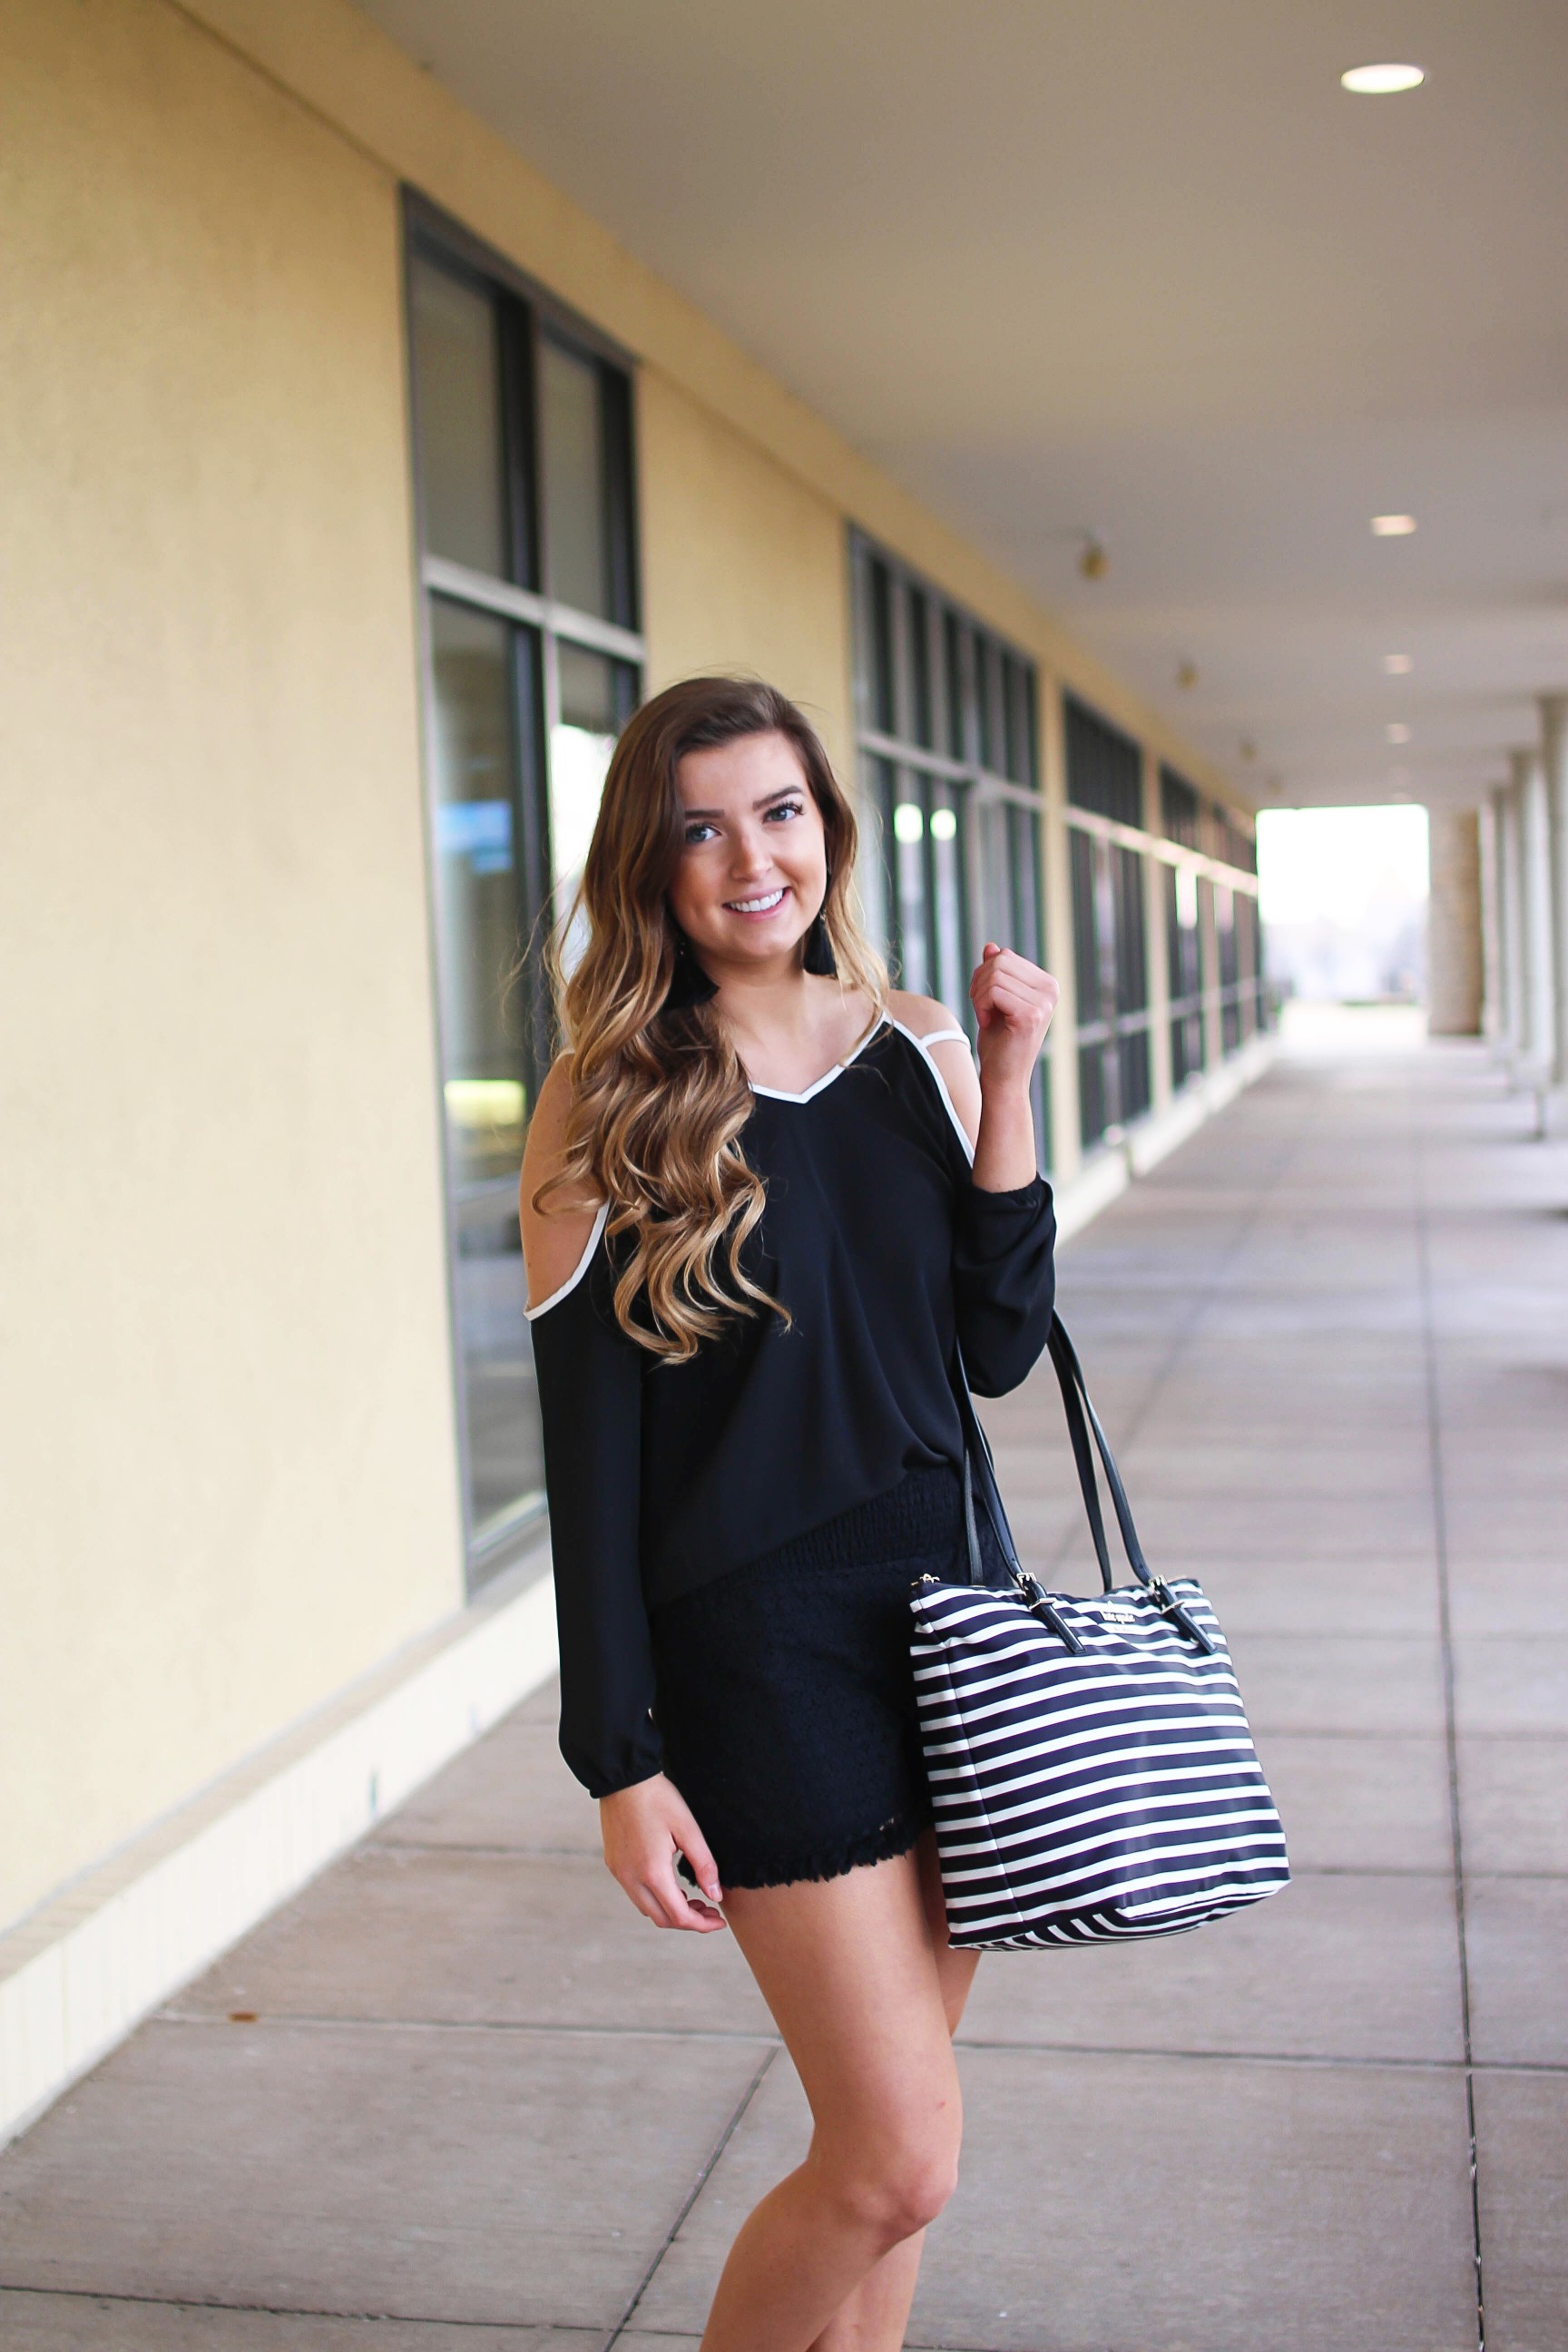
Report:
[[[783,734],[736,736],[679,762],[684,847],[670,913],[715,978],[795,957],[827,891],[827,842]]]

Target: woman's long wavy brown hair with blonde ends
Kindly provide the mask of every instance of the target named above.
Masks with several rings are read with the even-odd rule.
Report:
[[[571,906],[548,946],[555,1004],[571,1056],[564,1162],[534,1195],[552,1209],[571,1190],[609,1204],[618,1254],[616,1317],[651,1355],[689,1362],[729,1317],[788,1308],[743,1268],[764,1209],[741,1129],[752,1096],[712,1002],[665,1009],[682,934],[670,882],[684,847],[677,769],[689,750],[780,734],[823,816],[823,922],[839,988],[882,1011],[886,964],[860,931],[851,877],[856,816],[816,729],[759,680],[686,677],[630,720],[604,779],[599,818]],[[569,964],[588,929],[588,946]]]

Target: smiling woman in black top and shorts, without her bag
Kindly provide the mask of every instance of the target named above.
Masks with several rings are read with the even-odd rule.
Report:
[[[1001,1395],[1051,1319],[1030,1080],[1056,981],[985,948],[976,1080],[952,1011],[889,990],[853,856],[771,687],[646,703],[522,1169],[562,1752],[637,1910],[733,1929],[816,2126],[705,2352],[903,2343],[976,1966],[945,1936],[907,1592],[964,1557],[954,1338]]]

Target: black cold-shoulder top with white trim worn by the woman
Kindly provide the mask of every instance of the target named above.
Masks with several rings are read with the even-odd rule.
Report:
[[[595,1795],[661,1769],[649,1611],[959,1463],[954,1338],[1006,1395],[1051,1324],[1044,1176],[971,1181],[929,1051],[882,1021],[806,1094],[752,1087],[743,1131],[766,1209],[743,1263],[792,1312],[736,1317],[686,1364],[618,1327],[599,1211],[569,1282],[529,1310],[562,1649],[562,1755]]]

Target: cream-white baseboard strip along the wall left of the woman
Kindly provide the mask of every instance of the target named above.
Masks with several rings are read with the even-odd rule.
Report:
[[[517,1569],[0,1936],[0,2145],[555,1672]]]

